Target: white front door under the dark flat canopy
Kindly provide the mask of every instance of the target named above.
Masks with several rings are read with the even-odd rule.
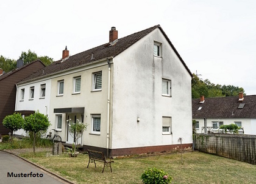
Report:
[[[67,117],[66,129],[68,130],[67,135],[66,135],[66,143],[73,144],[73,143],[75,143],[75,138],[74,138],[74,134],[71,133],[71,131],[70,131],[70,125],[74,124],[74,123],[77,123],[76,120],[82,118],[82,115],[80,115],[80,114],[67,114],[66,117]],[[81,141],[82,141],[82,139],[79,138],[78,141],[77,141],[77,144],[82,145]]]

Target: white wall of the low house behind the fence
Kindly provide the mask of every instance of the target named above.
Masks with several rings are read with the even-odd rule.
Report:
[[[193,118],[193,120],[199,121],[199,129],[196,130],[197,133],[204,133],[202,132],[202,127],[204,127],[204,119],[196,119]],[[206,123],[208,127],[213,126],[213,121],[222,121],[223,124],[235,124],[235,121],[241,121],[242,128],[244,129],[244,134],[249,135],[256,135],[256,120],[251,119],[227,119],[227,118],[207,118]],[[212,129],[212,132],[218,132],[218,129]],[[243,134],[242,131],[240,131],[240,134]]]

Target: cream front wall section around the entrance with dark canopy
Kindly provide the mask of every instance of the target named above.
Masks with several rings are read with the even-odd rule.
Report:
[[[64,61],[65,62],[65,61]],[[94,72],[102,71],[102,90],[92,91],[92,76]],[[73,78],[81,77],[80,94],[73,94]],[[64,93],[62,96],[57,95],[58,81],[64,80]],[[67,141],[68,134],[68,115],[80,118],[81,113],[54,113],[54,109],[67,107],[84,107],[84,123],[88,123],[88,128],[82,137],[82,145],[106,148],[107,145],[107,88],[108,88],[108,64],[107,61],[81,67],[77,70],[62,73],[52,78],[51,81],[51,106],[49,109],[49,120],[51,129],[55,129],[56,115],[63,115],[62,131],[58,135],[62,141]],[[91,134],[91,114],[101,114],[101,134]],[[74,120],[71,120],[74,121]]]

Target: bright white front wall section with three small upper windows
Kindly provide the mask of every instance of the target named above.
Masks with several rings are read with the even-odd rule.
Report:
[[[40,97],[41,84],[46,84],[45,97]],[[29,98],[30,87],[34,86],[34,99]],[[24,100],[21,100],[21,89],[24,89]],[[16,91],[16,106],[15,111],[39,111],[41,114],[49,115],[51,95],[51,80],[33,81],[32,83],[20,84]],[[48,131],[49,132],[49,131]],[[27,133],[20,129],[15,132],[16,135],[24,135]]]

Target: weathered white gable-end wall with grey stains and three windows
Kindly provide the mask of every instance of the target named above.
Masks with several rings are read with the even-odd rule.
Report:
[[[162,58],[153,56],[154,41]],[[111,149],[192,143],[191,76],[156,29],[113,59]],[[162,78],[171,97],[162,96]],[[162,134],[162,117],[172,117],[172,134]],[[140,121],[137,121],[140,118]]]

